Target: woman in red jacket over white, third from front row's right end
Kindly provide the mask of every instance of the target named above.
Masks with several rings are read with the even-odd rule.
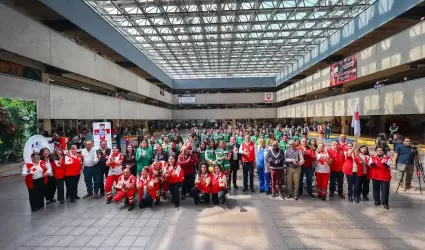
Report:
[[[358,152],[353,143],[348,142],[347,152],[344,152],[345,161],[342,172],[347,176],[348,182],[348,201],[360,202],[360,178],[363,176],[363,166],[359,160]]]

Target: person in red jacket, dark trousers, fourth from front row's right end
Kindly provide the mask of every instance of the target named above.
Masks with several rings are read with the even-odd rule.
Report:
[[[344,173],[342,166],[344,165],[345,156],[344,151],[339,147],[338,141],[332,142],[332,147],[327,150],[329,157],[332,159],[331,163],[331,177],[329,183],[329,197],[333,197],[336,191],[335,183],[338,183],[338,196],[345,199],[343,193]]]

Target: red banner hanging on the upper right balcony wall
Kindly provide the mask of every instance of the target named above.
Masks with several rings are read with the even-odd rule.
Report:
[[[331,87],[357,79],[357,55],[350,56],[333,64],[331,71]]]

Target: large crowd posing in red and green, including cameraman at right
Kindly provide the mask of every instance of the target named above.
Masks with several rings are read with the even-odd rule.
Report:
[[[304,189],[311,199],[327,200],[335,193],[345,199],[346,179],[348,201],[359,203],[369,200],[372,180],[375,205],[389,209],[392,162],[399,171],[406,172],[406,181],[400,183],[409,188],[413,173],[409,138],[395,148],[394,161],[387,156],[387,148],[379,145],[371,155],[367,146],[354,145],[343,134],[330,147],[322,139],[310,138],[306,126],[194,127],[184,140],[178,130],[164,132],[159,139],[144,136],[128,144],[125,153],[117,146],[108,148],[106,141],[101,141],[98,149],[92,141],[86,141],[82,150],[75,145],[68,151],[58,148],[53,153],[43,148],[33,153],[22,175],[32,211],[56,202],[55,193],[60,203],[80,199],[77,190],[81,173],[87,189],[84,199],[105,197],[107,204],[124,202],[129,211],[136,203],[140,208],[158,206],[169,194],[175,207],[187,196],[195,204],[210,200],[216,205],[226,204],[232,186],[239,189],[236,179],[240,167],[243,192],[255,192],[256,169],[259,192],[281,200],[298,200]],[[317,197],[313,194],[314,176]]]

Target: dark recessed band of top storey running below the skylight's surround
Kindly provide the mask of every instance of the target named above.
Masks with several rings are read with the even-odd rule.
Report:
[[[149,82],[156,84],[172,93],[185,93],[187,90],[171,90],[165,84],[161,83],[158,79],[152,75],[145,72],[143,69],[137,67],[132,62],[126,58],[119,55],[113,49],[109,48],[102,42],[95,39],[93,36],[83,31],[61,15],[57,14],[55,11],[51,10],[49,7],[45,6],[38,0],[3,0],[4,2],[12,5],[14,8],[22,11],[28,16],[38,20],[39,22],[45,24],[46,26],[68,36],[70,39],[76,41],[81,46],[84,46],[92,51],[95,51],[99,55],[103,55],[109,60],[114,61],[118,65],[127,68],[128,70],[134,72],[140,77],[145,78]],[[425,2],[419,4],[418,6],[410,9],[401,16],[389,21],[388,23],[382,25],[376,30],[370,32],[364,37],[352,42],[345,48],[335,52],[333,55],[329,56],[327,59],[317,63],[316,65],[310,67],[307,70],[304,70],[295,77],[284,82],[277,88],[265,89],[262,91],[277,91],[282,89],[299,79],[303,79],[309,75],[314,74],[317,70],[324,69],[330,64],[340,61],[341,59],[355,54],[373,44],[376,44],[390,36],[395,35],[417,23],[420,22],[422,16],[425,15]],[[244,92],[252,91],[258,92],[258,89],[205,89],[197,90],[196,93],[229,93],[229,92]]]

